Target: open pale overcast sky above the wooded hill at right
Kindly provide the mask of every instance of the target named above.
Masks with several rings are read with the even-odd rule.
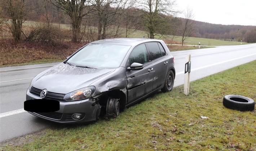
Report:
[[[192,9],[194,20],[200,22],[256,26],[256,0],[176,0],[176,4],[180,10]]]

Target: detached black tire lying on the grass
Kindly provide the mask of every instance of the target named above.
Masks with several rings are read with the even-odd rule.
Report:
[[[223,105],[238,111],[252,111],[254,110],[255,102],[249,97],[241,95],[226,95],[223,98]]]

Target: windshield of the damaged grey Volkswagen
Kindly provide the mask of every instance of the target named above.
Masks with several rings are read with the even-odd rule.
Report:
[[[70,64],[87,68],[118,68],[131,46],[89,44],[69,60]]]

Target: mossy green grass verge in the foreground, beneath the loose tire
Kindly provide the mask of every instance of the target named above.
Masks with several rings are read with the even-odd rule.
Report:
[[[115,119],[45,129],[32,142],[0,150],[256,150],[256,110],[222,105],[229,94],[256,100],[255,67],[252,61],[191,82],[189,96],[182,86],[176,87],[125,109]]]

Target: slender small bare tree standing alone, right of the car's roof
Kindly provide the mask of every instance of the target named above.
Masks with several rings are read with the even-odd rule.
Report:
[[[182,46],[184,41],[191,37],[194,30],[195,30],[195,22],[194,22],[194,13],[191,9],[187,8],[187,11],[185,12],[185,20],[182,21],[181,26],[181,41]]]

